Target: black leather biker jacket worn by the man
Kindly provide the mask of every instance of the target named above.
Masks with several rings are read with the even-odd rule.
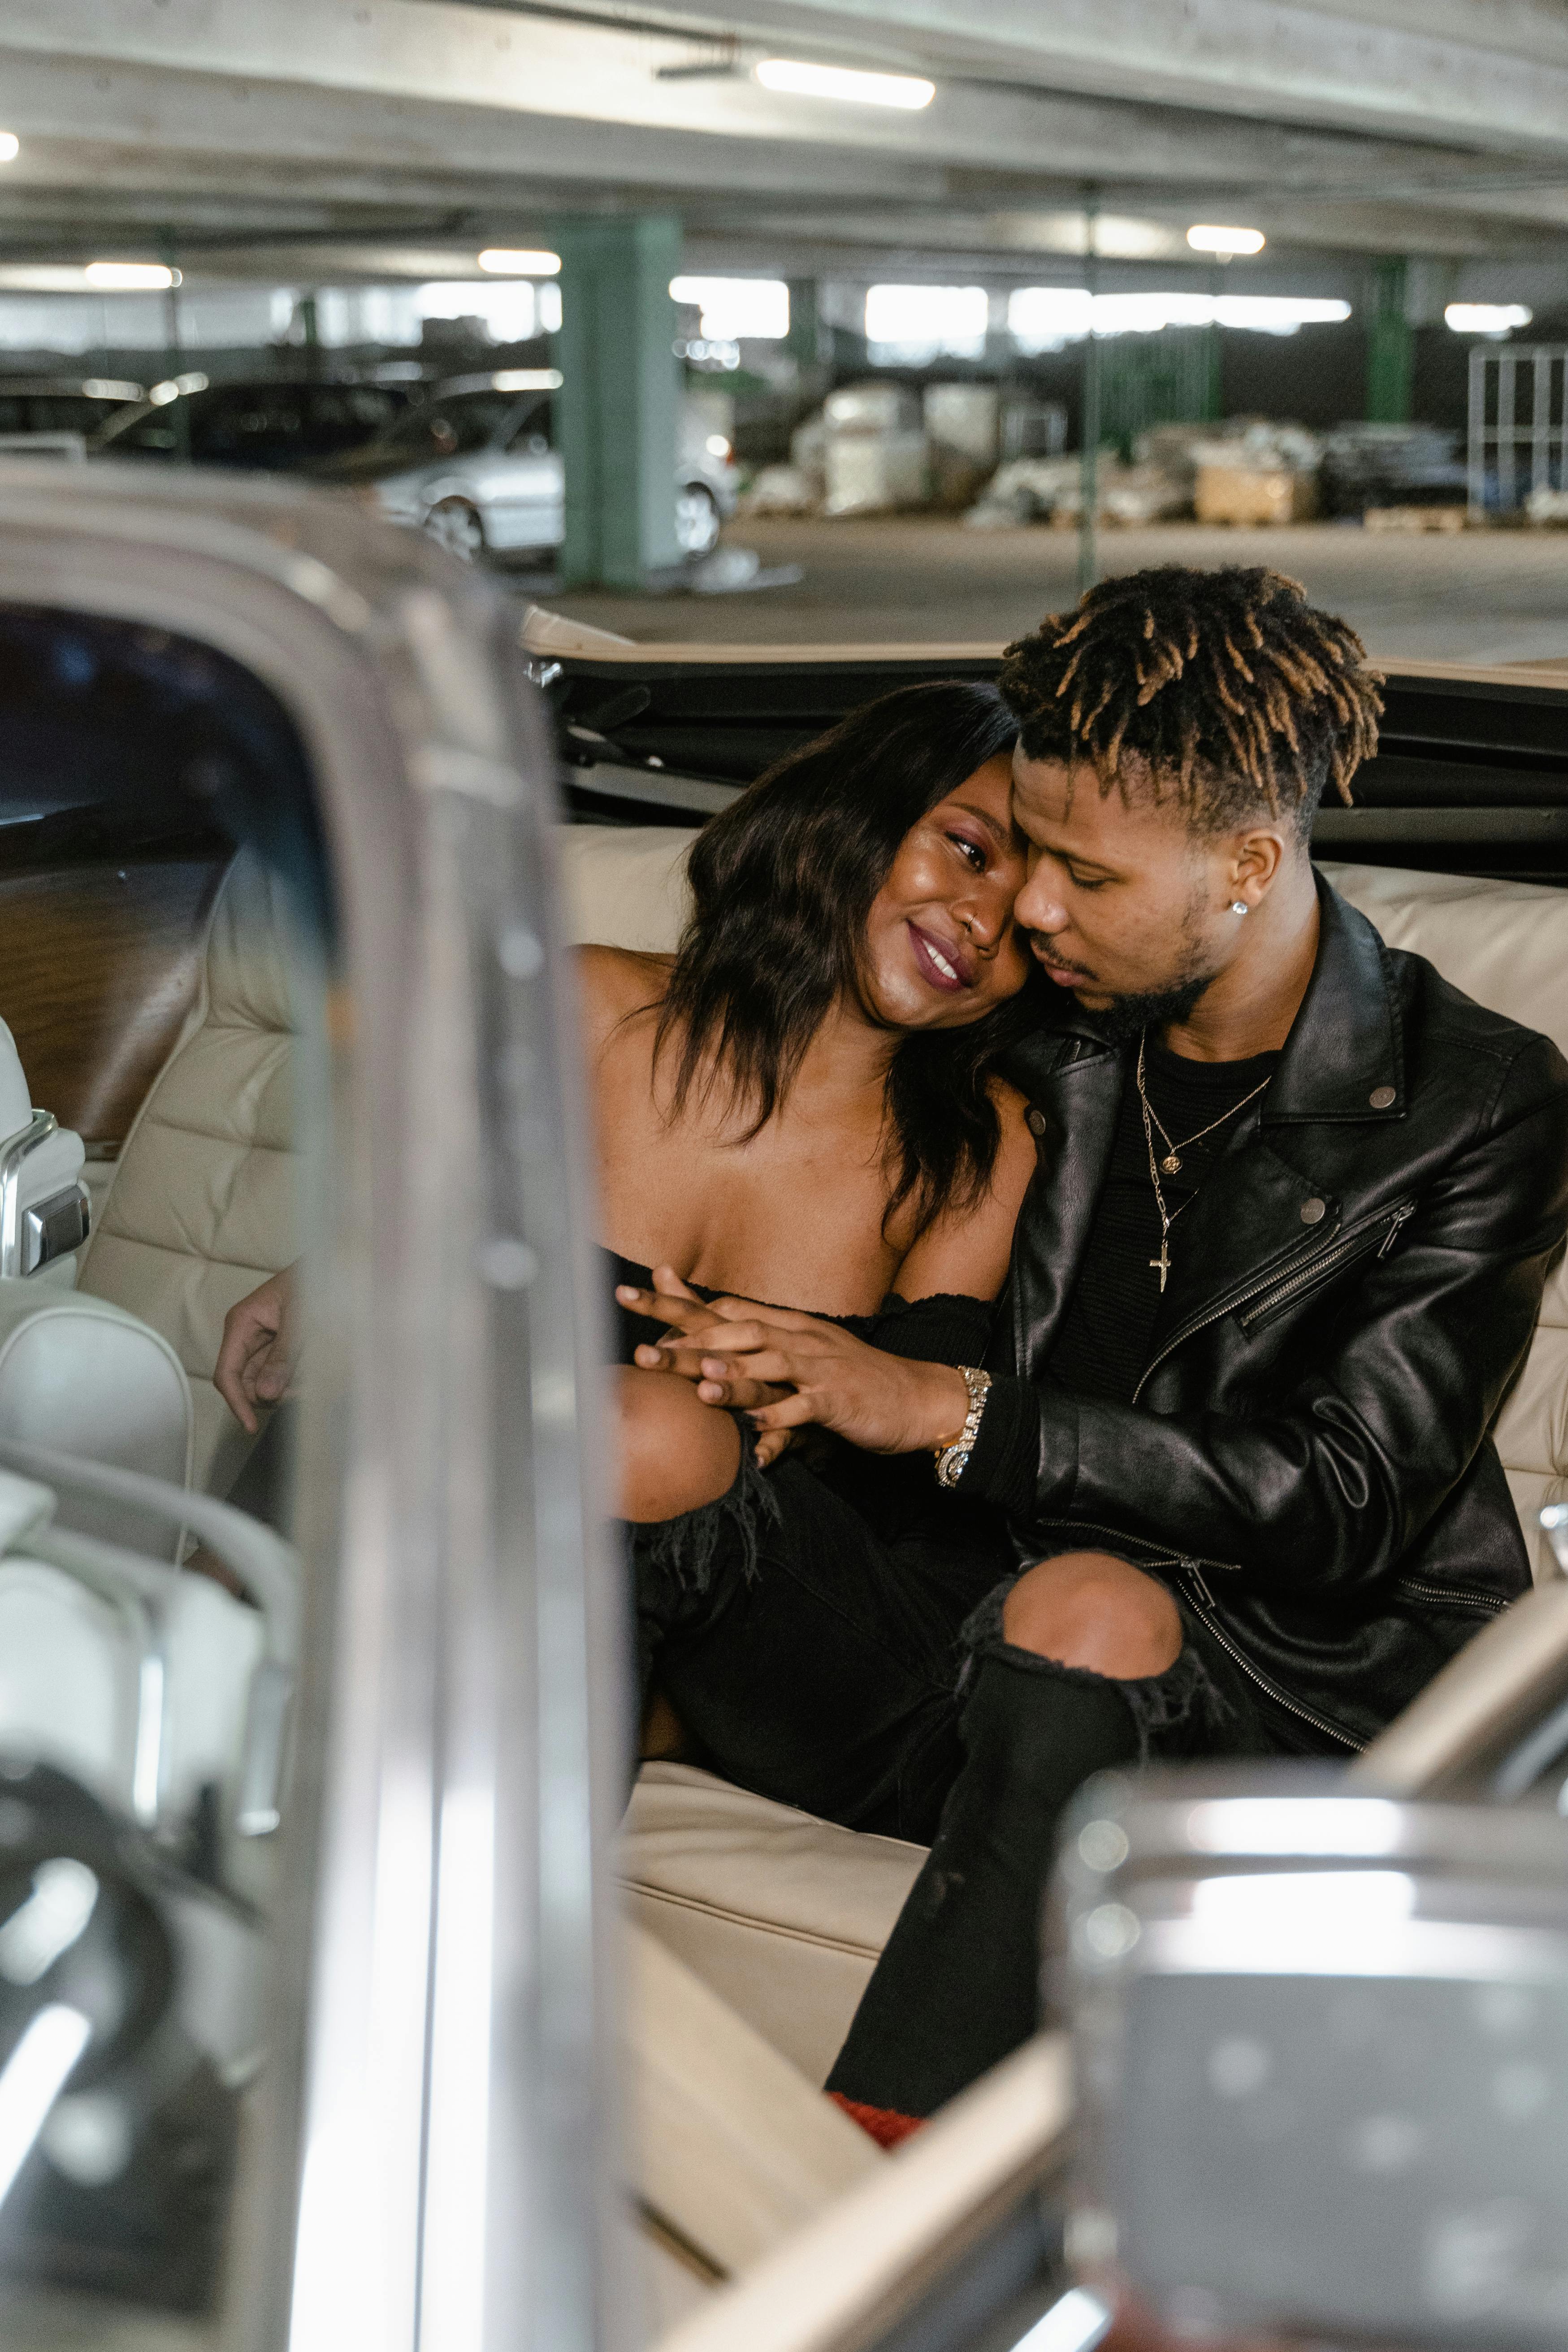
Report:
[[[1030,1390],[964,1486],[1020,1557],[1161,1573],[1342,1755],[1530,1581],[1488,1432],[1568,1230],[1568,1065],[1319,896],[1302,1009],[1182,1216],[1133,1404],[1044,1376],[1133,1051],[1070,997],[1023,1047],[1039,1171],[990,1369]]]

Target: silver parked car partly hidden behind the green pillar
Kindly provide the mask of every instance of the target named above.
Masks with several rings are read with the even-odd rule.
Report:
[[[552,433],[559,381],[552,367],[454,376],[322,477],[369,489],[390,520],[418,524],[465,560],[557,548],[567,527]],[[736,489],[729,442],[686,407],[675,475],[682,555],[712,550]]]

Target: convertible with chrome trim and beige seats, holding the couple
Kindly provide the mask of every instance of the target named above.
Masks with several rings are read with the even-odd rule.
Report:
[[[1128,2281],[1185,2343],[1561,2340],[1549,1555],[1345,1778],[1086,1797],[1046,2030],[891,2157],[818,2084],[919,1849],[682,1764],[616,1835],[559,950],[668,946],[712,807],[954,668],[520,647],[350,501],[0,468],[7,2352],[1088,2352]],[[1392,668],[1319,847],[1563,1040],[1568,687]],[[296,1258],[261,1494],[212,1369]],[[1566,1331],[1559,1277],[1497,1428],[1530,1529]]]

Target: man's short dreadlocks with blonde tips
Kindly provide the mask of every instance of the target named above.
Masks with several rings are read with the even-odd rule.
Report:
[[[1161,564],[1103,581],[1009,644],[997,680],[1030,760],[1175,800],[1194,830],[1262,809],[1302,837],[1378,750],[1382,680],[1354,628],[1279,572]],[[1131,755],[1131,760],[1128,760]]]

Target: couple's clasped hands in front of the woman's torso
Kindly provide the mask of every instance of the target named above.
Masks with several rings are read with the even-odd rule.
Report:
[[[675,1371],[703,1404],[750,1416],[757,1458],[783,1454],[790,1430],[835,1430],[867,1454],[919,1454],[952,1444],[969,1414],[952,1364],[884,1355],[839,1324],[752,1298],[698,1298],[675,1268],[654,1268],[654,1289],[616,1289],[621,1305],[670,1327],[637,1348],[644,1371]]]

